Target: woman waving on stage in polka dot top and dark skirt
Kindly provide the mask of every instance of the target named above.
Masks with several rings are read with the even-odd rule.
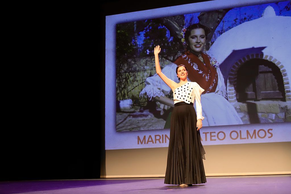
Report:
[[[203,160],[205,151],[200,140],[202,127],[202,107],[200,95],[204,92],[196,82],[187,80],[185,65],[176,67],[179,83],[165,76],[159,65],[159,52],[154,49],[157,75],[171,88],[174,96],[174,108],[171,115],[170,141],[165,176],[165,184],[190,186],[206,182]],[[196,102],[197,116],[193,107]]]

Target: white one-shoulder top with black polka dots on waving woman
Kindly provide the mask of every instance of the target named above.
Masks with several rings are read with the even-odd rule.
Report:
[[[197,119],[204,119],[202,116],[202,106],[201,106],[201,94],[204,92],[204,89],[199,86],[196,82],[187,82],[184,85],[176,88],[173,92],[174,104],[177,102],[186,102],[190,104],[192,102],[194,104],[194,100],[196,101],[196,111],[197,111]]]

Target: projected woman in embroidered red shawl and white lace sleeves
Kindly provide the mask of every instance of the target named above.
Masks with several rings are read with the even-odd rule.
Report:
[[[187,51],[169,65],[162,72],[171,80],[178,83],[175,75],[177,65],[185,65],[188,69],[189,81],[198,83],[205,89],[201,95],[203,106],[202,115],[205,117],[203,126],[243,124],[235,108],[228,102],[224,79],[219,69],[219,63],[212,57],[203,53],[206,36],[210,30],[202,24],[192,24],[186,29],[184,41]],[[145,88],[140,96],[147,95],[162,104],[173,107],[173,101],[165,97],[171,91],[157,74],[145,80]],[[169,128],[167,123],[165,128]]]

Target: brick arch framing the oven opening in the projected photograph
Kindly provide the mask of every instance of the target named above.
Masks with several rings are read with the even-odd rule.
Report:
[[[291,91],[290,91],[289,78],[288,78],[288,74],[286,72],[286,69],[285,69],[284,65],[279,60],[274,58],[273,56],[264,55],[262,53],[261,54],[249,54],[249,55],[246,55],[243,58],[237,60],[237,62],[235,62],[232,65],[232,67],[230,68],[230,72],[228,74],[228,78],[227,78],[228,101],[231,104],[234,104],[234,103],[237,102],[237,99],[236,99],[237,70],[246,61],[254,59],[254,58],[260,58],[260,59],[265,59],[265,60],[271,61],[277,67],[279,67],[279,69],[280,69],[280,71],[282,73],[282,77],[283,77],[283,84],[284,84],[284,88],[285,88],[286,102],[287,101],[291,101]]]

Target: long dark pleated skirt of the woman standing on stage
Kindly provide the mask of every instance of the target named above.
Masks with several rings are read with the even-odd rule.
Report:
[[[193,103],[175,103],[171,115],[170,141],[165,184],[206,183],[204,148],[196,128]]]

